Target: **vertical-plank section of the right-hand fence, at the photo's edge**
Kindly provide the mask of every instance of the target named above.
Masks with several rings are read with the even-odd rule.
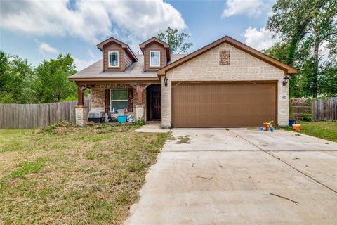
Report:
[[[312,119],[315,121],[337,121],[337,97],[314,99]]]

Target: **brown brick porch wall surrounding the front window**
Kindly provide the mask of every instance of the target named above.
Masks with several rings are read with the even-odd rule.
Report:
[[[105,109],[105,89],[128,89],[132,86],[129,84],[95,84],[90,89],[91,99],[90,108],[91,110],[104,110]],[[138,93],[133,89],[133,114],[136,114],[136,104],[138,99]],[[146,90],[143,92],[143,107],[144,107],[144,118],[146,119]]]

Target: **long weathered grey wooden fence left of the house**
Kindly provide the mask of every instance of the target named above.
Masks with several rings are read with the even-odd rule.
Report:
[[[89,99],[84,101],[89,106]],[[77,101],[45,104],[0,104],[0,129],[36,129],[60,121],[75,122]]]

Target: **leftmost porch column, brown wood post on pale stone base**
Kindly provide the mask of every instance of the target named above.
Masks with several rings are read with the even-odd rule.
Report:
[[[84,127],[87,121],[88,108],[84,106],[84,91],[88,88],[86,85],[78,86],[78,102],[75,107],[75,122],[79,127]]]

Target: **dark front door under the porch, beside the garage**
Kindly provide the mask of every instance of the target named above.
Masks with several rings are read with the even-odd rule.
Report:
[[[150,85],[147,88],[147,120],[161,120],[161,87]]]

